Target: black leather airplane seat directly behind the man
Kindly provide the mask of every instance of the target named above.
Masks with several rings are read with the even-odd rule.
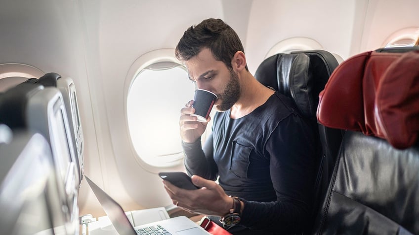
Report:
[[[335,56],[324,50],[296,51],[291,54],[276,54],[265,59],[257,68],[255,78],[267,87],[292,98],[302,116],[313,123],[316,139],[318,172],[314,185],[312,215],[317,214],[332,176],[342,131],[317,124],[316,112],[319,93],[330,75],[338,66]],[[318,128],[316,128],[316,126]],[[307,226],[307,232],[312,225]]]

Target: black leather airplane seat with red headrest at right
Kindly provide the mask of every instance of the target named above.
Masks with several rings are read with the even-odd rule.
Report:
[[[340,64],[317,117],[347,130],[313,234],[419,234],[419,48]]]

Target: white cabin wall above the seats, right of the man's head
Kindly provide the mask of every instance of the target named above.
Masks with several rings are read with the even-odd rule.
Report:
[[[394,32],[419,29],[418,0],[260,0],[251,6],[247,46],[254,72],[273,45],[310,37],[347,59],[385,46]]]

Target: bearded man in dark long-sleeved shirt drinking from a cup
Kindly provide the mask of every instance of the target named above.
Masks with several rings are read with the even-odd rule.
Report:
[[[207,123],[197,122],[190,115],[193,101],[181,109],[184,163],[201,189],[184,190],[164,181],[173,203],[211,215],[235,235],[302,232],[315,180],[312,124],[290,99],[251,75],[238,35],[222,20],[190,27],[175,52],[189,79],[218,96],[218,112],[202,148],[210,117]]]

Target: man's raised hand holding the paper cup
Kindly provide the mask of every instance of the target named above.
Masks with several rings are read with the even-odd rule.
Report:
[[[208,117],[207,122],[198,122],[197,117],[191,116],[195,113],[195,108],[192,107],[194,101],[189,101],[184,108],[180,110],[180,137],[186,143],[195,142],[207,128],[208,122],[211,120]]]

